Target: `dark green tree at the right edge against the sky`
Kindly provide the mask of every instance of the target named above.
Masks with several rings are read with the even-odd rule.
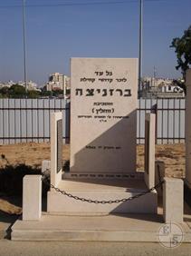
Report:
[[[173,39],[170,47],[175,48],[177,54],[177,66],[176,69],[181,69],[184,82],[177,81],[186,92],[186,70],[191,65],[191,25],[185,30],[182,37],[176,37]]]

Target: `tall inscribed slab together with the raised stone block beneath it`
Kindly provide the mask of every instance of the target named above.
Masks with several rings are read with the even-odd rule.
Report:
[[[151,156],[147,178],[136,172],[138,60],[72,58],[71,73],[71,168],[63,173],[59,189],[94,201],[146,192],[154,185],[155,170]],[[149,147],[155,135],[151,123]],[[63,214],[157,212],[157,204],[156,191],[134,201],[108,204],[48,193],[48,212]]]

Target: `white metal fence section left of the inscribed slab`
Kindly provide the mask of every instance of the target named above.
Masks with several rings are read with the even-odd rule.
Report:
[[[62,111],[63,139],[69,138],[69,103],[62,99],[1,99],[0,143],[48,142],[51,113]]]

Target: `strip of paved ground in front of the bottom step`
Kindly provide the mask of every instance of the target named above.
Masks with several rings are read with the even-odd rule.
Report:
[[[0,241],[0,255],[7,256],[186,256],[191,255],[191,245],[182,244],[176,249],[167,249],[158,243],[129,242],[28,242]]]

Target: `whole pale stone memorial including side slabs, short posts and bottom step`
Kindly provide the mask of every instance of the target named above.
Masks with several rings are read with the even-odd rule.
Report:
[[[71,64],[70,172],[62,172],[62,113],[53,113],[52,186],[48,192],[47,212],[41,218],[41,177],[26,176],[24,221],[18,220],[14,224],[12,239],[157,241],[161,216],[124,215],[129,212],[157,213],[158,209],[158,194],[155,189],[149,190],[155,185],[156,172],[156,116],[153,113],[146,114],[145,172],[136,172],[138,61],[73,58]],[[190,76],[189,72],[188,81],[191,81]],[[191,96],[190,82],[187,85],[188,95]],[[188,116],[191,109],[188,103],[186,108]],[[187,122],[189,124],[188,118]],[[186,136],[186,181],[189,185],[189,129]],[[46,165],[49,166],[47,162]],[[157,171],[160,181],[165,173],[164,164],[158,162]],[[37,192],[33,193],[33,188]],[[142,196],[124,200],[139,194]],[[183,182],[165,178],[163,194],[164,221],[181,224]],[[191,241],[191,232],[186,233],[186,241]]]

